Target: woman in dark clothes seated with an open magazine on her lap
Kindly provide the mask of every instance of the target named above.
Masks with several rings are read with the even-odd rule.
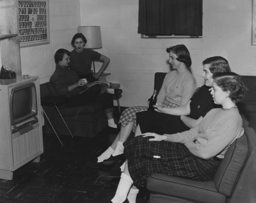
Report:
[[[83,91],[87,81],[79,79],[78,75],[69,68],[70,52],[66,49],[58,49],[54,54],[56,69],[50,78],[56,92],[62,96],[69,96],[76,106],[83,106],[88,103],[100,101],[102,103],[108,119],[108,125],[113,127],[113,99],[111,94],[100,94],[101,86],[94,85]],[[83,92],[82,92],[83,91]],[[82,93],[81,93],[82,92]]]

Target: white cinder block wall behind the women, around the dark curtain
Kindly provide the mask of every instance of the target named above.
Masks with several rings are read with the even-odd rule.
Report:
[[[53,54],[72,50],[70,41],[79,25],[100,25],[102,54],[110,57],[108,80],[120,82],[121,106],[145,105],[153,91],[153,74],[168,71],[166,47],[185,44],[192,57],[198,86],[202,60],[226,57],[232,70],[256,75],[256,46],[251,46],[251,0],[204,0],[202,39],[141,39],[139,0],[49,0],[50,44],[21,48],[22,74],[49,81],[55,69]],[[99,68],[99,64],[97,64]]]

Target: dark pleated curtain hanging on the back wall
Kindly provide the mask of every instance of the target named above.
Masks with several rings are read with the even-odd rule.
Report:
[[[139,0],[138,33],[202,36],[203,0]]]

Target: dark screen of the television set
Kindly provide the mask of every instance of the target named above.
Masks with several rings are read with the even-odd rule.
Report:
[[[17,124],[37,114],[36,88],[28,84],[14,88],[11,94],[12,123]]]

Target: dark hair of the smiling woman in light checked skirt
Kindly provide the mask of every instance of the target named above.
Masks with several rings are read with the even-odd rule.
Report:
[[[185,63],[187,68],[191,66],[191,63],[192,63],[191,57],[185,45],[181,44],[181,45],[171,46],[167,48],[166,51],[167,53],[173,52],[174,54],[176,54],[178,56],[178,58],[176,59],[180,62]]]

